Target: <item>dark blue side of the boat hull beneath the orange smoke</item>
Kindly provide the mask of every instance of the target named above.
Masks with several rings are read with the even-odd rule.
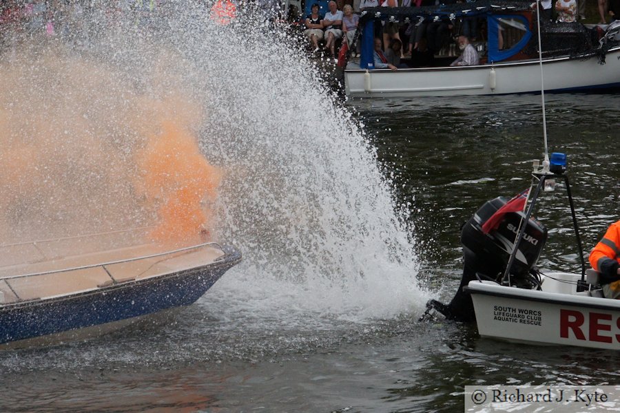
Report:
[[[241,260],[223,247],[221,260],[186,271],[114,284],[95,291],[0,307],[0,344],[114,324],[188,306]]]

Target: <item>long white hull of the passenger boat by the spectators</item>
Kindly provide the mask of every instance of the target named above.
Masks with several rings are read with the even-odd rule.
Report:
[[[568,57],[544,59],[546,92],[620,86],[620,47],[606,54],[606,63]],[[469,67],[422,67],[415,69],[344,71],[347,95],[364,97],[458,96],[537,93],[541,89],[537,60]]]

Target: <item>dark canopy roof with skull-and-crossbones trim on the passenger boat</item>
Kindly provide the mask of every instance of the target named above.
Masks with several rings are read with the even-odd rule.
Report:
[[[510,12],[523,12],[532,10],[532,0],[478,0],[471,3],[453,3],[440,4],[438,6],[422,6],[422,7],[373,7],[367,8],[362,12],[361,20],[366,21],[373,17],[387,20],[391,16],[397,21],[404,21],[407,17],[414,19],[415,17],[454,17],[459,16],[475,16],[477,14],[503,14]],[[376,14],[380,13],[379,16]]]

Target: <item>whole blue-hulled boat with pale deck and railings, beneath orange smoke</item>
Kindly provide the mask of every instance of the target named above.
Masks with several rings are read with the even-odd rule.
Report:
[[[0,350],[101,335],[189,306],[241,260],[214,242],[119,242],[141,231],[0,245]]]

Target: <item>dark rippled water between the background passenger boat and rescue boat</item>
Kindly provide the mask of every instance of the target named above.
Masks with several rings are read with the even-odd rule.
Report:
[[[530,184],[532,161],[543,159],[540,96],[361,101],[367,129],[400,200],[413,200],[411,220],[428,264],[459,268],[460,226],[484,201],[511,197]],[[548,152],[568,156],[584,249],[617,219],[620,148],[614,95],[547,95]],[[389,124],[385,124],[386,117]],[[548,223],[544,266],[577,271],[564,187],[546,193],[537,218]]]

